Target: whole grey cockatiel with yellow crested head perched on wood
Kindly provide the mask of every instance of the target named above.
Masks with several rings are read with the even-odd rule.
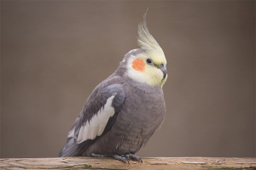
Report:
[[[166,57],[148,31],[146,14],[138,26],[137,43],[141,48],[125,54],[118,69],[96,86],[73,123],[59,157],[111,156],[128,163],[142,161],[133,154],[164,122],[162,87],[167,79]]]

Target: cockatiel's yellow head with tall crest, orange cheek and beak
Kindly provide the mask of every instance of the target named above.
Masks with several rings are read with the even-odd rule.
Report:
[[[146,13],[147,14],[147,13]],[[149,33],[146,14],[138,26],[137,43],[141,49],[131,50],[125,57],[127,75],[137,82],[162,87],[167,79],[166,57],[158,42]]]

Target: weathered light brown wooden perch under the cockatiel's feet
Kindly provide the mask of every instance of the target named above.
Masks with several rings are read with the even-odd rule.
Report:
[[[143,163],[112,158],[2,158],[0,169],[242,169],[256,170],[256,158],[237,157],[147,157]]]

